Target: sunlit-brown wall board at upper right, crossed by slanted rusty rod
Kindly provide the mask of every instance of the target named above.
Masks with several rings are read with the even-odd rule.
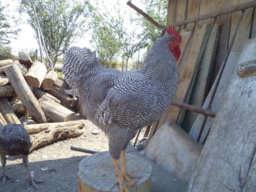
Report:
[[[241,3],[246,3],[249,1],[251,0],[233,0],[233,5],[239,5]],[[244,47],[244,43],[247,41],[247,39],[249,39],[251,21],[252,21],[252,12],[253,12],[253,8],[245,10],[239,30],[237,32],[236,39],[231,49],[232,52],[241,52],[242,48]],[[232,13],[229,41],[231,41],[231,38],[233,37],[240,14],[241,14],[241,11]]]

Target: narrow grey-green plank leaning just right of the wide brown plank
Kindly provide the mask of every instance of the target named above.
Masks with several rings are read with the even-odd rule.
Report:
[[[191,86],[192,92],[188,102],[190,105],[197,107],[202,107],[203,105],[210,83],[212,65],[214,63],[220,30],[220,25],[216,23],[207,42],[206,50],[204,51],[204,55],[196,75],[194,86]],[[182,111],[183,113],[185,113],[185,116],[184,120],[180,120],[179,126],[181,126],[181,128],[185,131],[189,132],[198,113],[189,110]]]

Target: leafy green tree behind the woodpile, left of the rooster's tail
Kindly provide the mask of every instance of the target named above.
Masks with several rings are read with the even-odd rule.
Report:
[[[90,10],[89,1],[68,0],[22,0],[19,8],[20,12],[30,16],[28,22],[35,31],[38,20],[53,68],[58,57],[88,30]]]

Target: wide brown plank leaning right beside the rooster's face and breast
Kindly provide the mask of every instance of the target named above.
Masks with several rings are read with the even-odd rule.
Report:
[[[191,78],[192,78],[192,74],[196,65],[196,60],[202,46],[202,41],[204,37],[207,36],[208,29],[209,29],[209,25],[204,25],[202,29],[198,29],[198,27],[196,27],[195,32],[192,35],[191,41],[188,44],[187,51],[180,65],[179,85],[178,85],[177,93],[173,99],[174,101],[183,102],[183,100],[185,99],[185,93],[188,89],[189,82],[191,81]],[[191,31],[188,31],[185,33],[181,32],[182,42],[184,43],[184,45],[188,41],[190,33]],[[183,51],[183,49],[184,47],[181,48],[181,52]],[[163,117],[160,119],[158,125],[156,123],[153,123],[152,129],[154,129],[155,127],[157,128],[161,127],[165,123],[165,121],[168,119],[172,121],[176,121],[176,119],[179,116],[178,114],[179,110],[180,108],[170,105],[166,109],[166,112],[165,114],[163,114]],[[153,132],[150,133],[149,140],[153,136],[152,134]]]

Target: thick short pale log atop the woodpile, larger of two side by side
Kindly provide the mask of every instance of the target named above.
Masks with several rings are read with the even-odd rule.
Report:
[[[27,83],[30,84],[32,87],[39,88],[44,80],[46,72],[46,66],[39,61],[35,61],[25,75]]]

